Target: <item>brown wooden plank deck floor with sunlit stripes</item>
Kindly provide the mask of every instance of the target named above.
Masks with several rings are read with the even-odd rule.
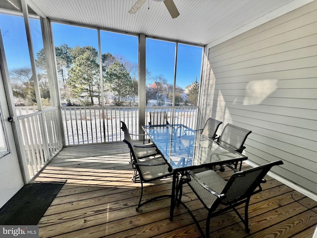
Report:
[[[64,148],[35,181],[67,179],[39,222],[40,237],[58,238],[170,238],[200,237],[190,215],[175,208],[169,221],[168,198],[152,202],[136,212],[140,184],[123,142]],[[244,168],[248,165],[244,164]],[[221,173],[223,177],[231,172]],[[267,177],[263,189],[250,202],[250,234],[232,211],[211,220],[211,237],[311,238],[317,225],[317,202]],[[171,179],[146,184],[144,199],[169,194]],[[183,200],[205,232],[207,210],[184,188]],[[243,208],[240,209],[243,211]]]

